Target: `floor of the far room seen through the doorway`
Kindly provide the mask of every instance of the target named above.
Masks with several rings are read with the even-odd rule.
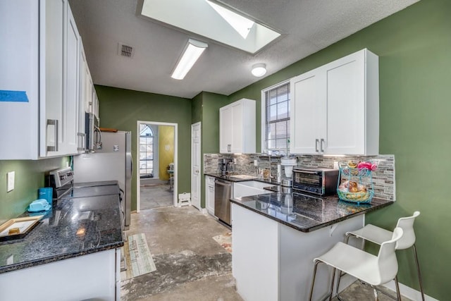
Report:
[[[167,181],[166,181],[167,182]],[[157,183],[140,187],[140,209],[152,209],[172,206],[173,191],[168,183]]]

